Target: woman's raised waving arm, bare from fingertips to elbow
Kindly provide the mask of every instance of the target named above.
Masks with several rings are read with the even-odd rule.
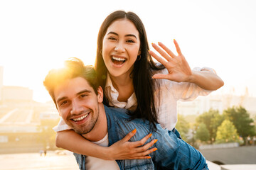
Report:
[[[154,79],[169,79],[176,82],[191,82],[197,84],[203,89],[214,91],[223,86],[224,82],[217,74],[210,72],[208,69],[202,69],[201,71],[192,71],[189,67],[186,58],[181,53],[181,49],[178,46],[178,42],[174,40],[178,55],[174,55],[168,47],[163,43],[159,42],[161,50],[156,44],[152,43],[154,49],[164,57],[159,57],[154,52],[149,51],[149,54],[154,57],[157,61],[166,67],[168,74],[154,74]]]

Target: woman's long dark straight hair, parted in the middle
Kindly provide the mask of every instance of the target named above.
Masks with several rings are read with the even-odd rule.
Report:
[[[158,123],[158,116],[154,100],[154,91],[156,89],[159,89],[159,84],[157,83],[157,81],[154,81],[154,79],[152,79],[152,70],[164,69],[164,66],[157,66],[156,63],[152,60],[151,55],[149,55],[149,44],[146,38],[146,30],[139,16],[137,16],[135,13],[125,11],[114,11],[109,16],[107,16],[105,21],[103,21],[97,38],[97,56],[95,60],[97,79],[99,81],[100,86],[104,88],[107,78],[107,67],[102,57],[102,43],[103,38],[107,32],[107,28],[114,21],[124,18],[128,19],[129,21],[132,21],[132,23],[134,23],[134,26],[139,31],[141,50],[141,57],[138,57],[136,62],[134,63],[134,69],[131,75],[133,78],[134,92],[137,97],[138,103],[136,111],[131,113],[131,116],[132,119],[144,118],[146,120],[149,120],[150,123]],[[103,103],[108,106],[106,96],[104,96]],[[155,125],[154,128],[156,128]]]

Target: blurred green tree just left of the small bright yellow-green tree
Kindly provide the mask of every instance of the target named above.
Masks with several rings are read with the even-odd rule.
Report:
[[[223,122],[224,116],[220,115],[218,110],[210,109],[196,118],[196,127],[201,123],[206,125],[208,132],[210,133],[209,140],[214,142],[218,126]]]

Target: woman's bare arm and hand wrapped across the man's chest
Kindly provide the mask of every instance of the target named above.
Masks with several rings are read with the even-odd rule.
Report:
[[[137,142],[128,142],[134,136],[136,130],[129,132],[122,140],[115,142],[110,147],[101,147],[76,133],[74,130],[64,130],[57,132],[55,144],[57,147],[68,149],[71,152],[84,154],[91,157],[97,157],[105,160],[115,159],[148,159],[155,148],[149,149],[154,145],[154,140],[144,145],[151,134],[146,135],[142,140]],[[144,146],[142,146],[144,145]]]

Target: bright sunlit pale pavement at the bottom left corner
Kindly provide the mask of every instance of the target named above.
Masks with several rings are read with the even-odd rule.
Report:
[[[33,154],[0,154],[1,170],[75,170],[78,165],[73,154],[58,155],[48,152],[46,156]]]

